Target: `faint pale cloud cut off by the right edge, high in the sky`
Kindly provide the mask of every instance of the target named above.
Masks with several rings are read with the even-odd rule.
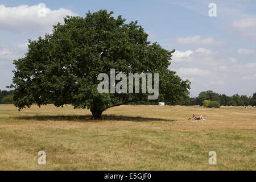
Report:
[[[241,35],[256,39],[256,18],[234,20],[232,26]]]

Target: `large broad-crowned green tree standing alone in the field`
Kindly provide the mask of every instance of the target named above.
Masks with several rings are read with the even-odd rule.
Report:
[[[127,102],[146,101],[148,94],[100,94],[100,73],[159,73],[159,101],[170,104],[189,100],[190,82],[170,71],[173,51],[147,41],[136,22],[125,23],[119,15],[100,10],[85,18],[67,16],[45,38],[29,40],[26,57],[14,60],[14,102],[20,109],[53,103],[102,111]]]

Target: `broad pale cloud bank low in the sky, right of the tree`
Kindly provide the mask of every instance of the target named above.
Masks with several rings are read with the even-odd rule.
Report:
[[[222,92],[233,88],[234,80],[243,78],[241,84],[249,84],[256,80],[256,63],[243,63],[236,57],[227,57],[226,52],[217,52],[206,48],[177,51],[172,57],[171,69],[183,80],[191,81],[191,93],[199,92],[199,88]],[[247,77],[246,77],[247,76]],[[202,89],[201,89],[202,90]],[[200,90],[200,91],[201,91]]]

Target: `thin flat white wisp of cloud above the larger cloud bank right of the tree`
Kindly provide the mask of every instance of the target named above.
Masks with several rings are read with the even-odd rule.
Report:
[[[180,44],[203,44],[203,45],[208,45],[208,44],[224,44],[223,41],[216,41],[213,38],[209,37],[206,39],[202,39],[200,35],[196,36],[188,36],[187,38],[177,38],[176,39],[177,43]]]

